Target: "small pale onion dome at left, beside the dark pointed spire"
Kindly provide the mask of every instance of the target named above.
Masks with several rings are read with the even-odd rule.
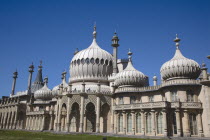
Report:
[[[52,99],[52,91],[47,87],[48,78],[44,79],[44,87],[37,90],[34,93],[34,98],[37,100],[51,100]]]

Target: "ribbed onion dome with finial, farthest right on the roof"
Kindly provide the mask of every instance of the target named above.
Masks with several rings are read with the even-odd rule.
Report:
[[[176,52],[174,57],[165,62],[161,69],[161,77],[163,80],[171,79],[197,79],[200,75],[200,66],[192,59],[184,57],[179,49],[180,39],[176,35]]]

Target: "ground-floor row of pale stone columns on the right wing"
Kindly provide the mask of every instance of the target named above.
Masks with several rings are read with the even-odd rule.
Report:
[[[183,113],[183,117],[181,117],[181,113]],[[138,115],[141,120],[138,119]],[[161,116],[159,116],[161,115]],[[176,115],[176,128],[177,134],[173,134],[173,136],[184,136],[189,137],[191,134],[190,130],[190,111],[184,110],[180,112],[179,109],[175,110]],[[124,135],[149,135],[149,136],[168,136],[168,128],[171,124],[167,124],[167,119],[169,116],[166,109],[161,111],[151,110],[121,110],[114,111],[114,133],[116,134],[124,134]],[[160,117],[160,118],[158,118]],[[130,120],[131,119],[131,120]],[[159,120],[160,119],[160,120]],[[132,124],[130,124],[130,122]],[[162,124],[160,124],[160,122]],[[181,127],[181,125],[183,127]],[[196,125],[198,128],[198,136],[203,136],[203,127],[201,120],[201,112],[196,115]],[[129,128],[132,126],[132,128]],[[139,130],[140,126],[140,130]],[[138,128],[137,128],[138,127]],[[196,129],[197,129],[196,128]]]

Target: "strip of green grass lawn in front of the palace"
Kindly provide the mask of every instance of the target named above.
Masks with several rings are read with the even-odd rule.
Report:
[[[0,130],[0,140],[102,140],[104,136],[87,134],[53,134],[49,132],[27,132]],[[107,137],[107,140],[143,140],[137,138]]]

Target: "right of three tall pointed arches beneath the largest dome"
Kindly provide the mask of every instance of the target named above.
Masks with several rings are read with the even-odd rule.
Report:
[[[105,103],[104,105],[102,105],[102,110],[101,110],[101,117],[102,117],[102,125],[103,125],[103,133],[107,133],[110,128],[110,107],[107,103]]]

